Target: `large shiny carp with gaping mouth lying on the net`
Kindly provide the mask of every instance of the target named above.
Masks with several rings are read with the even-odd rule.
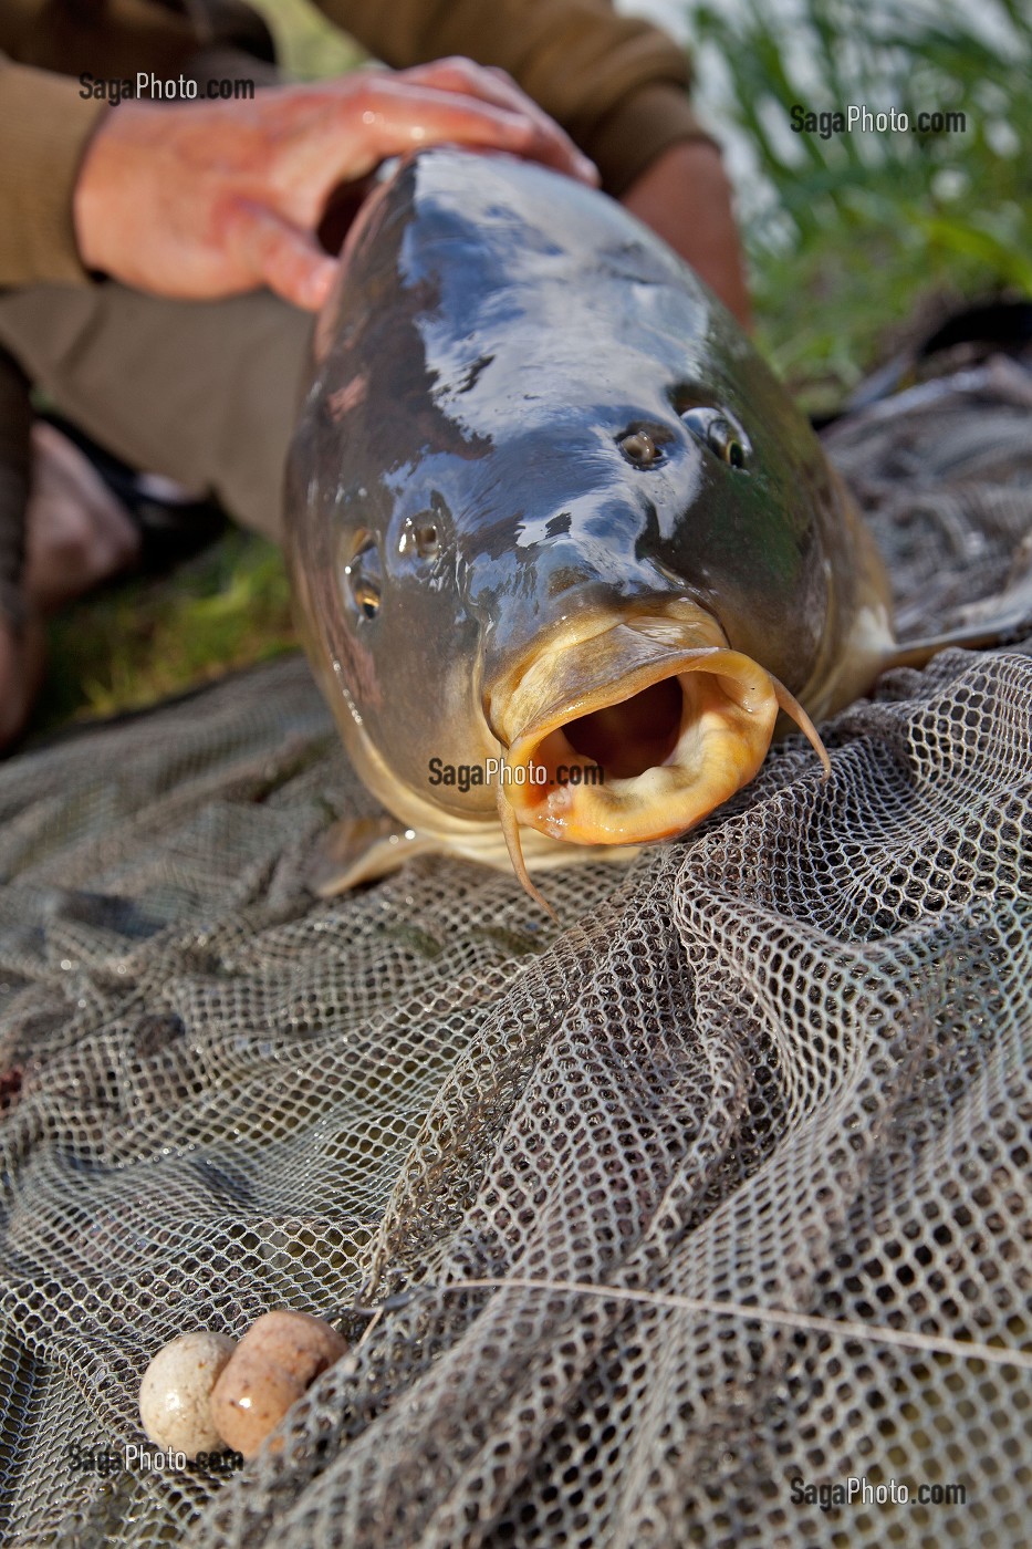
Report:
[[[363,206],[287,555],[392,815],[332,832],[322,894],[446,849],[544,903],[527,867],[685,833],[779,711],[827,770],[810,717],[894,651],[872,539],[742,328],[606,195],[504,155],[418,152]]]

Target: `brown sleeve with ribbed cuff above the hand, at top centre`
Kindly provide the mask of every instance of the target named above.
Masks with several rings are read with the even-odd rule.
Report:
[[[501,65],[592,156],[620,195],[679,139],[708,139],[688,105],[688,60],[609,0],[318,0],[397,70],[446,54]]]

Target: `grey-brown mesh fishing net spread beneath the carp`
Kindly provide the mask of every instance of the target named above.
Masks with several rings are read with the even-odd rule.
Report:
[[[1030,407],[993,361],[831,432],[911,637],[1027,593]],[[305,892],[373,807],[298,658],[3,765],[6,1541],[1026,1543],[1015,641],[561,926],[452,860]],[[104,1472],[166,1340],[277,1306],[352,1341],[279,1450]]]

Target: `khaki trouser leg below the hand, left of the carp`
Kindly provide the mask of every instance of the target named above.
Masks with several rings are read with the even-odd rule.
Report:
[[[276,541],[311,328],[268,291],[222,302],[115,283],[0,293],[0,345],[64,415]]]

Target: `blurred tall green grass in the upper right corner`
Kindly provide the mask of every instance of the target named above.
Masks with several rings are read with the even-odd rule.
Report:
[[[727,119],[773,198],[745,223],[759,339],[812,410],[841,404],[914,318],[1032,294],[1032,12],[1023,0],[739,0],[694,11]],[[964,133],[795,133],[868,104],[962,113]],[[756,201],[753,200],[753,208]]]

